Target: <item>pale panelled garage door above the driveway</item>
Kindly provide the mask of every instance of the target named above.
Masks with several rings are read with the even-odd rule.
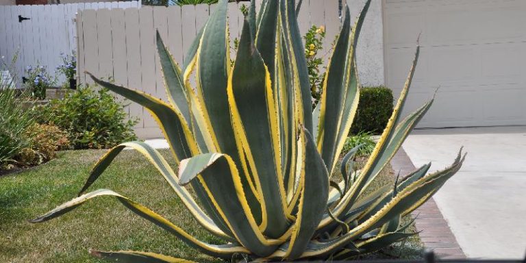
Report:
[[[420,127],[526,125],[526,1],[384,0],[386,84],[398,94],[421,33],[405,113]]]

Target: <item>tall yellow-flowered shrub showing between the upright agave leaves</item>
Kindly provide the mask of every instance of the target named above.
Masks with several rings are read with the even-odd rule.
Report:
[[[323,49],[325,27],[323,25],[321,27],[313,25],[303,38],[305,38],[305,58],[307,59],[312,107],[314,108],[321,98],[321,86],[325,77],[325,73],[320,72],[323,60],[318,57],[318,52]]]

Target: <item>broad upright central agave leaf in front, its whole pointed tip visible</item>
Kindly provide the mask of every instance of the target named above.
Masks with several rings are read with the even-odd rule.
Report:
[[[270,75],[253,45],[247,20],[236,58],[227,91],[238,149],[244,149],[251,177],[260,189],[264,234],[279,238],[289,226],[281,174],[279,124]]]

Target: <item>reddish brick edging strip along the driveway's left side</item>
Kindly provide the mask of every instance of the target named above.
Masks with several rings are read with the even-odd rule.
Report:
[[[400,148],[391,160],[392,169],[400,175],[407,175],[414,171],[415,167],[409,156]],[[418,215],[418,216],[417,216]],[[420,231],[420,239],[424,246],[433,249],[438,258],[442,259],[464,259],[466,255],[458,245],[457,239],[442,213],[436,206],[434,199],[429,199],[420,208],[412,212],[416,216],[416,230]]]

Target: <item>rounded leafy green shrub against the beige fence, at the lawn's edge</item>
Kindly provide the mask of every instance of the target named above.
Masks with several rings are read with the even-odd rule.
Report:
[[[136,119],[127,119],[125,105],[105,88],[85,86],[42,107],[39,123],[57,125],[74,149],[111,148],[136,140]]]

